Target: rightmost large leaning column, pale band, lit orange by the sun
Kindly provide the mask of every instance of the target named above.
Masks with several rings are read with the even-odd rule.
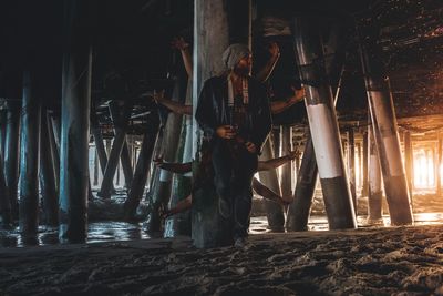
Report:
[[[383,174],[384,192],[391,224],[408,225],[413,223],[413,216],[406,176],[401,160],[391,88],[381,60],[381,48],[377,43],[379,30],[374,30],[373,24],[368,25],[368,28],[370,29],[365,32],[364,44],[361,44],[361,63]]]

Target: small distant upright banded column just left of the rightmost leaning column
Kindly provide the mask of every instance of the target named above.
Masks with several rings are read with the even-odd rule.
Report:
[[[375,139],[372,125],[368,126],[369,145],[369,181],[368,181],[368,223],[380,223],[382,221],[382,196],[381,169],[379,154],[377,153]]]

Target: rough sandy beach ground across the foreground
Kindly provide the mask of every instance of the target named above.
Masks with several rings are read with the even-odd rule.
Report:
[[[1,295],[443,294],[443,225],[2,248]]]

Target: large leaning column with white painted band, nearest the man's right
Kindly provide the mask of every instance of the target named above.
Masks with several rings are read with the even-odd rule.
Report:
[[[329,228],[356,228],[356,214],[346,175],[332,92],[324,69],[318,22],[312,18],[297,18],[293,34],[301,82],[307,92],[306,108]]]

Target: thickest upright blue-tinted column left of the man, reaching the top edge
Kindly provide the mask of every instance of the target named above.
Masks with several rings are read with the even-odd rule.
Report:
[[[89,4],[86,0],[64,1],[59,237],[70,243],[81,243],[87,237],[92,74]]]

